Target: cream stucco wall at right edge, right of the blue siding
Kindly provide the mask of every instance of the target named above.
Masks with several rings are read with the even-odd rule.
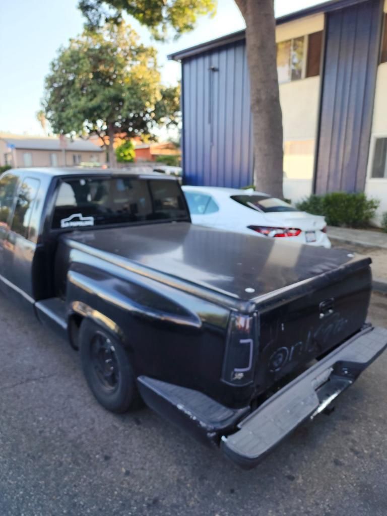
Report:
[[[387,0],[384,3],[387,12]],[[387,178],[372,179],[372,163],[374,159],[375,141],[378,137],[387,138],[387,62],[378,67],[376,78],[374,117],[372,123],[371,141],[369,146],[367,180],[365,191],[367,195],[380,200],[380,207],[375,222],[380,223],[381,214],[387,212]]]

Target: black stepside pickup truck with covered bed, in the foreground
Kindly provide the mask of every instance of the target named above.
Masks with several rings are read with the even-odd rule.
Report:
[[[387,346],[370,260],[190,223],[174,179],[0,178],[0,285],[79,349],[91,391],[140,397],[251,467]]]

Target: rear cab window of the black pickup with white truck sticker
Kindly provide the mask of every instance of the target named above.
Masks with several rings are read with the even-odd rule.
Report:
[[[132,178],[63,181],[54,210],[53,228],[79,228],[188,216],[174,181]]]

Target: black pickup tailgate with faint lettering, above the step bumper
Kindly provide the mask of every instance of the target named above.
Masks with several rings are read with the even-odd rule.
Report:
[[[369,264],[365,259],[343,265],[269,299],[257,300],[256,395],[359,331],[371,292]]]

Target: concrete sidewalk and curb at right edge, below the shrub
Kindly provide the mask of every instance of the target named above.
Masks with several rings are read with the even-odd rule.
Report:
[[[328,236],[333,247],[369,256],[374,290],[387,294],[387,233],[329,226]]]

